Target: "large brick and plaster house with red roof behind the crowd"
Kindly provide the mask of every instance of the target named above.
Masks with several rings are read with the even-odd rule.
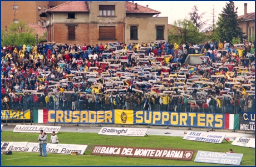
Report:
[[[168,40],[168,17],[132,2],[72,1],[43,11],[47,41],[68,44]]]

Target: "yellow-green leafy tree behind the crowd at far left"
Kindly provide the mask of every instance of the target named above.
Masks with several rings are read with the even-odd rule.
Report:
[[[7,31],[1,29],[1,42],[6,45],[28,45],[36,43],[36,34],[33,28],[29,28],[24,21],[19,20],[19,23],[11,23]]]

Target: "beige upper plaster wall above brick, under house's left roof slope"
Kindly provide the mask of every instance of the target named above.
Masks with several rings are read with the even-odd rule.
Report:
[[[75,19],[68,19],[68,13],[55,12],[53,13],[53,23],[88,23],[89,13],[87,12],[70,12],[75,13]]]

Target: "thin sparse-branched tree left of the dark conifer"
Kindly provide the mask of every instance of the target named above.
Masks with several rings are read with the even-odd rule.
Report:
[[[206,24],[207,21],[201,21],[203,18],[205,12],[198,14],[198,7],[194,6],[192,8],[192,12],[189,13],[190,21],[194,24],[195,27],[198,28],[198,31],[200,31]]]

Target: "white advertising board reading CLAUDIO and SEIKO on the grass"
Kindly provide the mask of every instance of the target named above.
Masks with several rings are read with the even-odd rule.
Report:
[[[242,158],[243,154],[198,151],[194,161],[198,163],[240,165]]]

